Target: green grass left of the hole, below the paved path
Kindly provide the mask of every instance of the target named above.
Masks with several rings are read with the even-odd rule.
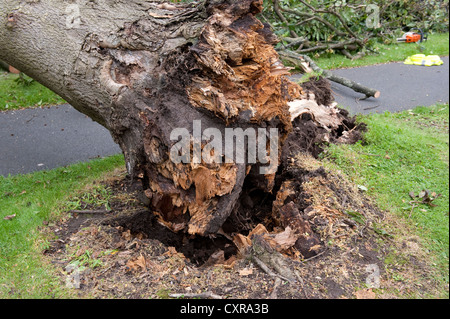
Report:
[[[122,155],[28,175],[0,176],[0,299],[71,294],[55,276],[55,267],[43,261],[42,251],[50,239],[44,222],[52,225],[72,196],[117,167],[124,167]]]

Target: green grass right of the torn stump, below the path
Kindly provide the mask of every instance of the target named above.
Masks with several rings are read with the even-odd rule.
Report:
[[[449,106],[418,107],[402,113],[360,118],[368,125],[364,142],[332,145],[333,166],[366,187],[381,209],[406,219],[426,243],[440,278],[449,271]],[[411,205],[410,192],[441,194],[435,207]]]

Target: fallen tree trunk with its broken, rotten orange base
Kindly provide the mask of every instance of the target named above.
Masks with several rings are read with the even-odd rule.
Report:
[[[111,132],[172,231],[245,246],[236,232],[270,219],[284,248],[310,256],[320,242],[285,169],[294,151],[352,140],[355,124],[326,80],[289,81],[261,10],[262,0],[0,0],[0,59]],[[273,208],[246,221],[262,194]]]

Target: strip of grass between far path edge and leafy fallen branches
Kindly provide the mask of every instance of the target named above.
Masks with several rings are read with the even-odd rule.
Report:
[[[324,54],[318,58],[312,56],[317,64],[323,69],[351,68],[388,62],[404,61],[408,56],[422,53],[426,55],[449,55],[449,34],[430,34],[428,41],[421,44],[416,43],[379,43],[376,46],[377,53],[369,52],[368,55],[350,60],[339,54]],[[421,48],[422,47],[422,48]]]

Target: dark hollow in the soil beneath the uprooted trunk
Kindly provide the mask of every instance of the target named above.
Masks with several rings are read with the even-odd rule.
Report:
[[[253,171],[254,170],[254,171]],[[280,226],[279,221],[274,218],[272,213],[273,203],[276,200],[281,184],[287,178],[299,177],[304,175],[305,171],[289,171],[284,165],[279,166],[276,174],[275,185],[272,192],[266,191],[263,179],[258,174],[258,168],[252,169],[247,176],[243,186],[243,192],[235,209],[222,226],[222,230],[233,236],[242,234],[247,236],[258,224],[262,224],[271,232],[275,227]],[[298,184],[298,187],[301,187]],[[305,198],[300,188],[294,189],[295,198],[289,197],[298,205],[299,209],[305,207]],[[131,214],[122,215],[105,221],[105,224],[113,227],[121,226],[129,230],[132,235],[144,234],[149,239],[160,241],[167,247],[175,249],[184,254],[193,264],[201,266],[217,251],[224,252],[225,260],[238,253],[237,247],[232,240],[225,236],[217,234],[215,238],[192,236],[183,232],[174,233],[160,222],[150,210],[140,210]]]

